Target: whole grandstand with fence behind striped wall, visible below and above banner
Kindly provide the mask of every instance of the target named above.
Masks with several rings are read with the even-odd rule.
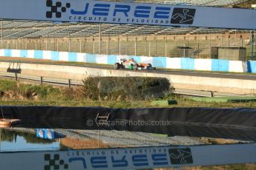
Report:
[[[130,1],[131,0],[126,0]],[[134,0],[133,2],[245,7],[245,0]],[[1,21],[1,48],[55,50],[98,54],[181,57],[177,47],[190,47],[189,57],[209,58],[211,47],[246,47],[249,30],[161,27],[136,24]]]

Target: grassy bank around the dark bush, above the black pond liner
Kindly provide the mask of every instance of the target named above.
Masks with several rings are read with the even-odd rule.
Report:
[[[186,96],[165,95],[156,99],[145,100],[120,100],[119,98],[102,98],[92,100],[83,94],[83,87],[55,87],[49,85],[24,84],[20,81],[0,80],[0,104],[1,105],[24,105],[24,106],[108,106],[115,108],[131,107],[156,107],[151,105],[152,100],[176,100],[177,105],[186,107],[251,107],[256,108],[256,102],[240,103],[207,103],[202,101],[192,101]]]

